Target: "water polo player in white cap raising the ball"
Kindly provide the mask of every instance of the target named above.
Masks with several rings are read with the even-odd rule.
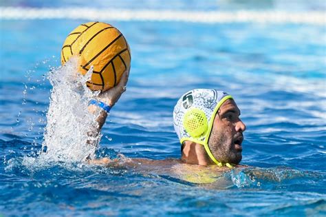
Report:
[[[107,102],[109,107],[120,98],[127,84],[128,73],[125,72],[116,87],[104,92],[100,98]],[[99,126],[102,127],[107,117],[107,111],[100,106]],[[96,110],[96,105],[91,105]],[[243,124],[240,110],[226,92],[213,89],[196,89],[184,94],[173,112],[175,132],[181,143],[182,157],[180,160],[165,160],[164,165],[186,163],[191,165],[218,165],[219,167],[233,167],[238,165],[242,158]],[[97,130],[100,130],[100,127]],[[96,132],[98,134],[98,132]],[[155,161],[147,159],[128,159],[129,165],[157,165]],[[109,158],[92,160],[91,163],[109,164]],[[121,162],[123,164],[123,162]]]

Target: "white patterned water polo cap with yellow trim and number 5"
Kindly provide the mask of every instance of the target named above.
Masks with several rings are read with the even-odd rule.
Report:
[[[208,138],[215,114],[227,99],[232,96],[223,91],[195,89],[181,96],[173,111],[173,125],[180,143],[192,141],[204,145],[210,159],[219,166],[222,164],[210,152]]]

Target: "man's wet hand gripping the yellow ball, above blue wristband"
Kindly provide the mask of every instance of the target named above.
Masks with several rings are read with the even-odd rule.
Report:
[[[110,107],[113,107],[116,102],[118,102],[118,99],[120,99],[120,96],[126,91],[126,85],[129,78],[129,70],[126,70],[120,79],[120,82],[115,87],[111,87],[109,90],[102,92],[98,95],[98,100],[102,101],[103,103],[106,103]]]

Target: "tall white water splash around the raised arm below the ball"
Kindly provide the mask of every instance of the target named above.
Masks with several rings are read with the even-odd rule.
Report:
[[[78,73],[77,65],[78,60],[72,58],[63,67],[51,70],[47,76],[52,90],[43,153],[40,155],[47,161],[83,161],[87,156],[94,156],[101,137],[101,134],[87,135],[98,126],[95,121],[98,114],[87,110],[89,100],[98,94],[85,84],[92,68],[83,76]]]

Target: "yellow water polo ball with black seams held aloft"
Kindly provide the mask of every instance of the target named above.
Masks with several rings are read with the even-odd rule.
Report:
[[[79,57],[79,72],[86,74],[93,65],[91,90],[109,90],[120,81],[123,72],[130,68],[131,52],[127,40],[112,25],[89,22],[70,32],[63,43],[61,63],[72,56]]]

